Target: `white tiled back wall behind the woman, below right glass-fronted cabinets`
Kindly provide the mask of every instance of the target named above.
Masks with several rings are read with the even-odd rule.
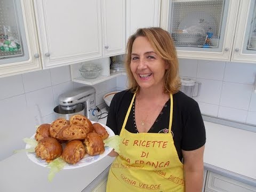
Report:
[[[181,77],[202,83],[194,98],[202,114],[256,125],[255,64],[179,59],[179,66]],[[126,81],[117,77],[117,87],[125,87]]]

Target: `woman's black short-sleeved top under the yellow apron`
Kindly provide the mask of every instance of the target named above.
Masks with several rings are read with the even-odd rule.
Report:
[[[132,101],[133,93],[130,90],[118,92],[114,95],[107,118],[107,126],[120,134],[125,115]],[[135,102],[135,101],[134,101]],[[133,106],[134,106],[133,102]],[[155,123],[148,133],[166,133],[170,121],[170,99],[165,103]],[[125,129],[132,133],[137,133],[133,108],[127,119]],[[198,103],[179,91],[173,94],[173,117],[172,135],[175,148],[180,161],[182,162],[182,150],[195,150],[202,147],[206,141],[205,127]]]

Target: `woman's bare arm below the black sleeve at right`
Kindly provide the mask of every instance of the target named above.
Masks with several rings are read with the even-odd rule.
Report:
[[[204,178],[204,146],[191,151],[182,150],[186,192],[201,192]]]

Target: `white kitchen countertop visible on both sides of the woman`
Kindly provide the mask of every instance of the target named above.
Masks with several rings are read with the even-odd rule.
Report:
[[[99,122],[105,124],[106,118]],[[204,123],[205,169],[256,186],[256,133]],[[49,182],[49,169],[31,162],[26,153],[17,153],[0,162],[0,191],[91,191],[106,177],[113,161],[114,158],[106,156],[91,166],[62,170]]]

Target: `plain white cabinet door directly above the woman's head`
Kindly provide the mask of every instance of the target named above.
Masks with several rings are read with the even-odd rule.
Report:
[[[138,28],[159,27],[161,3],[159,0],[126,1],[126,40]]]

